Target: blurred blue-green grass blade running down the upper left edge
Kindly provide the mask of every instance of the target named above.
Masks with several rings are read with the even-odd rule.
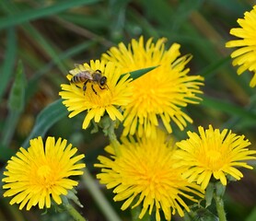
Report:
[[[3,94],[6,91],[7,84],[13,74],[14,65],[16,62],[17,53],[17,38],[16,30],[14,28],[9,28],[6,31],[6,53],[5,61],[1,70],[1,81],[0,81],[0,102],[2,100]]]

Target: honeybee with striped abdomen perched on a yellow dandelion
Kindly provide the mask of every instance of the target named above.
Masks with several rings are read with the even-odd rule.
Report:
[[[83,90],[84,92],[87,89],[87,83],[94,83],[94,84],[98,84],[100,89],[106,89],[108,88],[107,86],[107,77],[106,76],[102,76],[102,72],[100,70],[91,70],[91,69],[85,69],[82,70],[80,68],[81,64],[75,64],[75,67],[79,70],[79,73],[76,74],[76,76],[73,76],[70,80],[71,83],[82,83],[84,82],[84,86],[83,86]],[[70,71],[71,74],[73,71]],[[93,92],[97,95],[97,91],[94,88],[94,84],[91,84],[91,88],[93,90]]]

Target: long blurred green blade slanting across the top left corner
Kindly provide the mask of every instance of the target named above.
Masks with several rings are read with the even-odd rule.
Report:
[[[16,15],[3,17],[0,19],[0,29],[5,29],[10,26],[18,25],[26,21],[35,20],[41,17],[56,15],[59,12],[67,10],[75,6],[84,6],[92,3],[97,3],[99,0],[73,0],[73,1],[58,1],[52,6],[41,7],[38,9],[31,8],[27,11],[21,11]]]

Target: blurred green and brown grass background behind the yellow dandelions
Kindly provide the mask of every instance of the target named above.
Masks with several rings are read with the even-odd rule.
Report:
[[[229,30],[239,27],[237,19],[250,11],[250,0],[74,0],[74,1],[0,1],[0,163],[19,146],[28,147],[38,135],[66,138],[86,154],[87,168],[103,153],[108,140],[102,133],[81,129],[83,114],[68,119],[60,102],[60,84],[67,83],[68,70],[75,63],[99,59],[102,52],[123,41],[144,35],[168,38],[167,45],[181,44],[181,53],[192,53],[188,64],[192,75],[205,77],[204,101],[187,109],[198,125],[229,128],[245,134],[256,148],[256,96],[250,88],[251,73],[237,76],[225,43],[234,37]],[[178,139],[186,137],[173,125]],[[243,171],[244,178],[228,185],[225,198],[228,220],[256,220],[255,169]],[[88,220],[108,220],[83,182],[78,189]],[[129,211],[121,212],[111,191],[107,200],[121,220],[130,220]],[[0,191],[0,220],[71,220],[54,209],[47,215],[32,209],[19,211],[8,204]],[[109,218],[110,220],[110,218]],[[174,217],[174,220],[180,220]],[[111,220],[112,221],[112,220]]]

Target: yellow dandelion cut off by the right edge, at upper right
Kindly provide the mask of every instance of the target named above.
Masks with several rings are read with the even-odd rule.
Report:
[[[256,86],[256,6],[250,12],[244,14],[244,18],[239,18],[240,28],[230,30],[230,34],[239,40],[228,41],[227,48],[240,47],[231,53],[233,65],[239,65],[238,74],[241,75],[246,70],[254,72],[250,80],[250,87]]]

